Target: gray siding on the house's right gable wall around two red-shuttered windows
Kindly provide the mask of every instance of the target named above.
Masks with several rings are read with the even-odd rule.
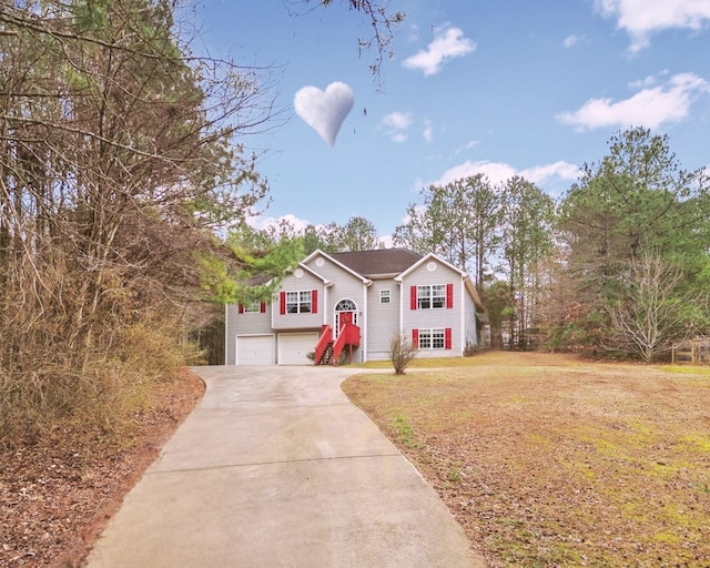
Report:
[[[420,349],[420,357],[457,357],[464,353],[463,327],[462,327],[462,293],[464,283],[459,273],[452,271],[448,266],[434,262],[435,271],[428,271],[425,263],[416,271],[407,274],[402,287],[403,307],[403,332],[412,338],[412,329],[423,328],[447,328],[452,329],[450,349]],[[454,307],[438,307],[429,310],[410,310],[409,294],[410,286],[426,286],[437,284],[454,285]]]

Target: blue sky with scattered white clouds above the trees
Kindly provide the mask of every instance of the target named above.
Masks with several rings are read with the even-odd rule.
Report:
[[[379,80],[376,53],[358,53],[365,17],[318,4],[203,0],[192,16],[213,54],[265,68],[282,110],[242,140],[271,187],[256,225],[359,215],[386,237],[423,187],[478,172],[557,197],[628,126],[668,134],[684,169],[710,165],[710,0],[390,0],[406,18]],[[294,98],[334,82],[354,103],[331,146]]]

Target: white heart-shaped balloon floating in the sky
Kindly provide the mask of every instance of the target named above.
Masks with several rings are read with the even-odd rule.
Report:
[[[347,84],[336,81],[331,83],[325,92],[312,85],[300,89],[293,99],[293,106],[296,114],[333,148],[354,102],[353,90]]]

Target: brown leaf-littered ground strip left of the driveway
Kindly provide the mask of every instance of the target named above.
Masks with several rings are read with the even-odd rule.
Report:
[[[154,405],[120,445],[65,432],[0,453],[0,567],[74,568],[162,444],[194,408],[204,384],[185,371],[155,385]]]

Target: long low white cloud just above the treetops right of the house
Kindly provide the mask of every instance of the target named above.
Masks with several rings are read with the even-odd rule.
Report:
[[[487,160],[471,162],[466,160],[463,164],[456,165],[445,171],[442,176],[429,185],[446,185],[456,180],[462,180],[483,173],[490,183],[503,183],[514,175],[520,175],[535,184],[542,184],[549,180],[558,179],[575,181],[579,178],[580,170],[569,162],[558,161],[552,164],[536,165],[526,170],[516,170],[503,162],[489,162]]]

